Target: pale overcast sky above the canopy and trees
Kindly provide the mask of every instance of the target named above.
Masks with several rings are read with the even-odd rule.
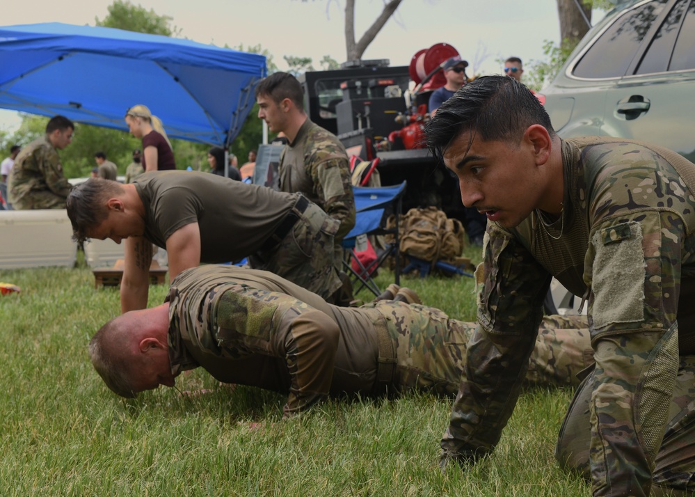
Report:
[[[38,22],[95,24],[112,0],[12,0],[3,2],[3,26]],[[230,47],[261,45],[280,70],[283,56],[345,59],[344,1],[338,0],[141,0],[131,1],[172,17],[181,36]],[[382,0],[360,0],[356,36],[372,24]],[[594,22],[600,16],[594,14]],[[525,63],[543,60],[544,40],[559,40],[556,0],[404,0],[363,58],[388,58],[408,65],[421,49],[449,43],[477,73],[500,72],[500,59],[518,56]],[[468,71],[472,73],[471,70]],[[0,112],[0,127],[10,129],[14,113]]]

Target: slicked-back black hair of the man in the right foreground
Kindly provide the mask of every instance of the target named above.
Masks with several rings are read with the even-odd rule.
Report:
[[[464,132],[475,133],[483,141],[513,141],[534,124],[555,135],[548,112],[529,88],[499,74],[483,76],[463,85],[442,104],[425,127],[426,143],[433,155],[442,157]]]

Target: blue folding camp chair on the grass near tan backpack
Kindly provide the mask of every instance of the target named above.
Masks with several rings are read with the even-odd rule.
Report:
[[[381,294],[378,285],[371,274],[380,267],[389,255],[394,255],[396,267],[394,269],[395,283],[400,283],[401,261],[399,256],[398,225],[401,216],[401,203],[406,191],[406,182],[392,187],[353,187],[355,195],[356,219],[355,227],[343,239],[343,248],[348,255],[343,260],[346,271],[353,276],[353,289],[358,293],[367,287],[375,295]],[[395,227],[387,229],[385,218],[393,213],[396,219]],[[360,235],[394,235],[394,241],[387,244],[384,250],[378,254],[375,260],[363,265],[356,253],[356,241]],[[358,269],[353,268],[353,261]]]

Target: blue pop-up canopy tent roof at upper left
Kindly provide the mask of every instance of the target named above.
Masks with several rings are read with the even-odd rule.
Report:
[[[0,108],[127,130],[144,104],[167,134],[227,145],[266,58],[191,40],[47,23],[0,27]]]

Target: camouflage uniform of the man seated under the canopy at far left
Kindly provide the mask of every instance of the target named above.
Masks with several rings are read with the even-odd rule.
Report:
[[[65,209],[71,188],[58,151],[45,135],[17,155],[8,180],[8,200],[15,210]]]

